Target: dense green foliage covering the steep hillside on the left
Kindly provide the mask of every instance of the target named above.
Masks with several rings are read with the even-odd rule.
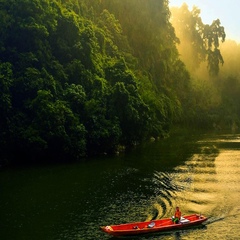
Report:
[[[168,132],[184,66],[166,1],[102,2],[1,1],[2,158],[77,159]]]

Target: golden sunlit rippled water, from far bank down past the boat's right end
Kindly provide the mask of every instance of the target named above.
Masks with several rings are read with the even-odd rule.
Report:
[[[171,187],[168,199],[159,200],[159,205],[165,202],[171,211],[178,205],[183,214],[201,213],[209,218],[206,230],[190,231],[184,239],[240,239],[240,139],[222,136],[199,144],[199,153],[164,177]],[[155,173],[155,179],[158,176],[164,186],[161,175]],[[160,198],[165,198],[164,194]],[[168,211],[162,212],[165,217],[169,215]]]

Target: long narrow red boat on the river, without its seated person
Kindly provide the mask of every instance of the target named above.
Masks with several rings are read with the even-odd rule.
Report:
[[[174,223],[171,218],[164,218],[148,222],[132,222],[119,225],[100,227],[102,231],[112,236],[132,236],[146,233],[164,232],[179,230],[197,226],[207,220],[207,217],[200,214],[192,214],[181,217],[179,223]]]

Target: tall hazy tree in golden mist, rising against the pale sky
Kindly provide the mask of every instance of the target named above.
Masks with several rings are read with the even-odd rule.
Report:
[[[179,51],[189,70],[196,70],[206,60],[209,74],[218,75],[219,64],[224,62],[219,41],[224,42],[226,37],[220,20],[204,24],[200,17],[201,11],[196,6],[190,11],[185,3],[171,11],[172,24],[180,39]]]

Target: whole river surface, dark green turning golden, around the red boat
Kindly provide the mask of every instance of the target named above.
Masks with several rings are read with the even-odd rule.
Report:
[[[99,226],[170,217],[176,205],[207,224],[135,239],[240,239],[239,198],[240,135],[178,135],[115,157],[0,170],[0,239],[114,239]]]

